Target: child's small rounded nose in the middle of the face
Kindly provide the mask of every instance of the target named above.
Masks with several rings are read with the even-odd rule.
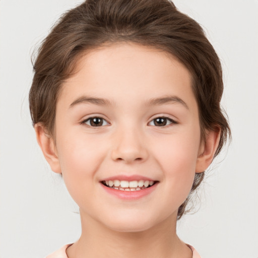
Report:
[[[112,142],[111,158],[126,164],[144,162],[148,150],[143,135],[137,128],[120,128]]]

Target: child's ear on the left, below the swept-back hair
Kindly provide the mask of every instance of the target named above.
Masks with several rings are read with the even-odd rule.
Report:
[[[36,132],[38,145],[52,171],[61,174],[60,163],[53,138],[46,133],[46,129],[41,123],[35,124],[34,130]]]

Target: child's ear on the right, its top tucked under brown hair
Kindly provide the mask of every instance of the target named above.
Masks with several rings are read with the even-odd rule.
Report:
[[[196,162],[196,173],[204,172],[212,163],[220,141],[220,128],[206,131],[206,142],[202,143]]]

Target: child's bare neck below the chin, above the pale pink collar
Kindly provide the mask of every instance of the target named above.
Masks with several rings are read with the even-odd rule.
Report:
[[[191,250],[176,235],[176,215],[140,232],[119,232],[83,216],[82,235],[67,249],[77,257],[191,257]]]

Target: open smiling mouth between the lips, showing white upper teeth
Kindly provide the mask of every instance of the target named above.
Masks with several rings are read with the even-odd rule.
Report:
[[[135,181],[124,181],[124,180],[108,180],[101,181],[101,183],[109,188],[113,188],[121,191],[140,191],[146,188],[150,188],[158,181],[149,180],[135,180]]]

